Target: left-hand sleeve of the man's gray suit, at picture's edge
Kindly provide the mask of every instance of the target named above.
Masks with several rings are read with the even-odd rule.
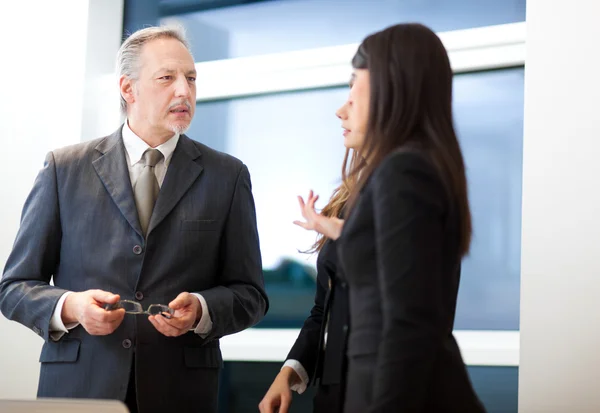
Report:
[[[46,156],[25,201],[0,281],[0,311],[49,340],[54,308],[66,290],[51,286],[60,260],[61,224],[54,155]]]

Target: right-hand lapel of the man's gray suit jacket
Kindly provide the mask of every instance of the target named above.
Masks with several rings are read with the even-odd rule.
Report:
[[[202,173],[204,168],[196,161],[200,155],[200,150],[190,138],[185,135],[179,137],[150,218],[148,235],[173,210]]]

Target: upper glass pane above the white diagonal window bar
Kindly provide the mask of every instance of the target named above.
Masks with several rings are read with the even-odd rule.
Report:
[[[188,30],[196,61],[206,61],[358,43],[402,22],[435,31],[522,22],[525,0],[279,0],[175,18]]]

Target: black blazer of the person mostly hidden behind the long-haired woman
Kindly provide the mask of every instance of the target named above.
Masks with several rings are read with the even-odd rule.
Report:
[[[327,315],[327,345],[323,350]],[[340,273],[335,243],[328,240],[317,258],[315,305],[287,357],[302,364],[311,383],[317,380],[325,385],[342,382],[348,318],[346,280]]]

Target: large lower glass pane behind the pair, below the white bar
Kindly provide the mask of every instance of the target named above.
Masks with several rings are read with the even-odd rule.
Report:
[[[322,207],[344,155],[334,112],[345,87],[198,104],[189,132],[250,170],[271,309],[261,326],[300,326],[314,298],[315,239],[292,224],[297,195]],[[457,329],[519,328],[523,69],[455,77],[455,119],[474,220],[463,266]]]

